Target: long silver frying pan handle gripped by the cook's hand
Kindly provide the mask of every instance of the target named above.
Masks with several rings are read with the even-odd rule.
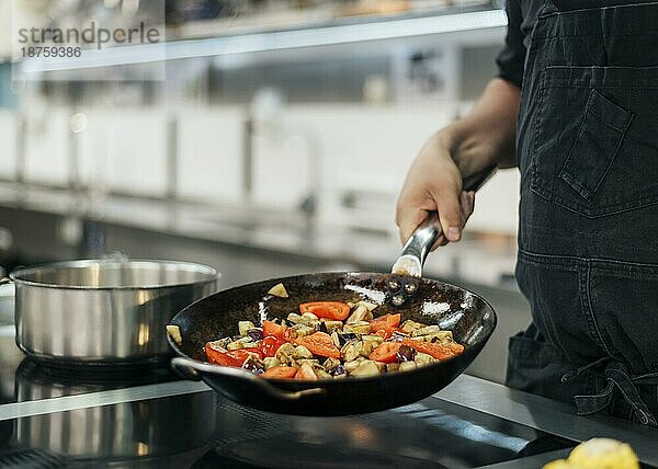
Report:
[[[485,168],[464,180],[464,191],[477,191],[496,172],[496,167]],[[424,264],[432,245],[441,234],[441,225],[435,211],[428,215],[426,221],[420,225],[400,252],[400,256],[393,264],[392,272],[400,275],[422,276]]]

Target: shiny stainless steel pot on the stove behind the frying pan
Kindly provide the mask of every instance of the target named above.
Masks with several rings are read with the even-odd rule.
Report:
[[[86,260],[19,268],[16,343],[52,365],[166,359],[166,325],[217,290],[215,268],[173,261]]]

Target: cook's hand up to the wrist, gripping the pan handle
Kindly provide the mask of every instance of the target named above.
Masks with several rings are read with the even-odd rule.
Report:
[[[475,193],[462,190],[462,174],[441,133],[422,148],[402,186],[397,202],[396,222],[402,243],[431,211],[439,213],[441,234],[432,250],[458,241],[473,214]]]

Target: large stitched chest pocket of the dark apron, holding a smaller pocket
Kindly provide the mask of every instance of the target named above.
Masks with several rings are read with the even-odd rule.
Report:
[[[658,204],[658,67],[546,67],[531,190],[588,218]]]

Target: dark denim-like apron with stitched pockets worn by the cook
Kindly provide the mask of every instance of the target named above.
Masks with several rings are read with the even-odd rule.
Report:
[[[527,57],[511,387],[656,425],[658,3],[560,11]]]

